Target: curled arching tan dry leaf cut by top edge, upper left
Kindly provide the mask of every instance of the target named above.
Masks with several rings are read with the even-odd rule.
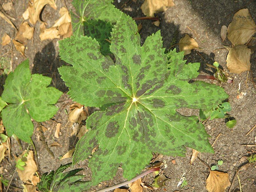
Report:
[[[40,21],[39,15],[46,4],[49,4],[53,9],[57,9],[54,0],[31,0],[28,2],[28,9],[22,14],[24,20],[29,19],[32,25],[36,21]]]

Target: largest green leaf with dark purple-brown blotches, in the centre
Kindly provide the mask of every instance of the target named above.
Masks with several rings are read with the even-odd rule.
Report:
[[[160,31],[141,46],[137,25],[129,16],[122,15],[111,36],[115,63],[101,54],[91,37],[60,41],[61,59],[73,65],[59,68],[70,97],[86,106],[112,104],[88,117],[91,130],[78,141],[73,156],[75,164],[99,145],[89,160],[91,185],[112,178],[121,163],[124,177],[131,179],[152,152],[184,156],[187,146],[213,153],[198,117],[182,116],[176,109],[210,109],[228,97],[223,88],[188,83],[198,75],[200,64],[186,65],[183,53],[164,54]]]

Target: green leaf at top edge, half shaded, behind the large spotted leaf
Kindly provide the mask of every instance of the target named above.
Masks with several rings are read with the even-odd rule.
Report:
[[[103,55],[110,53],[110,37],[113,25],[122,12],[113,4],[113,0],[74,0],[76,12],[71,12],[74,36],[87,35],[100,43]]]

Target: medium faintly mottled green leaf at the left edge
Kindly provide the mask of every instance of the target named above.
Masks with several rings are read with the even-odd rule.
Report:
[[[50,77],[30,74],[28,60],[18,65],[5,81],[2,99],[9,105],[2,110],[3,124],[7,134],[30,142],[34,126],[30,118],[42,122],[52,118],[58,111],[54,106],[62,92],[54,87]]]

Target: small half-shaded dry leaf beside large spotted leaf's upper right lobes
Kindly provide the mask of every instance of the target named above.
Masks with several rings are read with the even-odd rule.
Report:
[[[191,53],[192,49],[198,48],[198,44],[195,39],[191,38],[188,34],[180,39],[179,42],[180,51],[184,51],[184,55]]]

